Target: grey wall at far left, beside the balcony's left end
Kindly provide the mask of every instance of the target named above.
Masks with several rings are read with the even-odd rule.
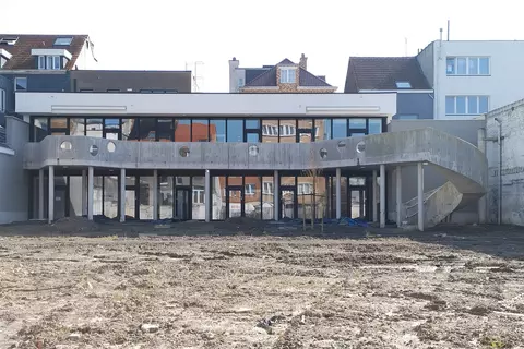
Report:
[[[0,145],[0,224],[27,220],[28,176],[23,168],[23,149],[29,140],[26,122],[7,117],[9,149]]]

